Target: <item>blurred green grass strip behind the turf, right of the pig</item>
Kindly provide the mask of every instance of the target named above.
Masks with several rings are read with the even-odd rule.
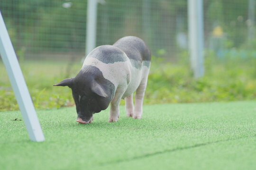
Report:
[[[205,76],[194,79],[187,54],[179,64],[152,62],[148,77],[146,103],[213,102],[256,99],[256,58],[226,56],[217,60],[208,51]],[[182,59],[183,58],[183,59]],[[184,60],[185,59],[185,60]]]

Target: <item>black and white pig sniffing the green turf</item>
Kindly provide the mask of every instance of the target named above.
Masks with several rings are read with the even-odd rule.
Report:
[[[116,122],[121,99],[125,99],[126,115],[140,119],[150,59],[150,50],[143,40],[126,36],[113,45],[92,50],[77,76],[55,86],[72,89],[79,123],[91,123],[93,114],[107,109],[109,104],[109,122]]]

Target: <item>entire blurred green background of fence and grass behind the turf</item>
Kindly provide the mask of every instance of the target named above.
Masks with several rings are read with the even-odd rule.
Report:
[[[36,109],[74,105],[69,88],[52,85],[82,67],[87,7],[87,0],[0,1]],[[255,0],[203,0],[202,7],[199,78],[190,66],[188,0],[97,0],[95,45],[127,35],[148,44],[152,65],[145,104],[256,100]],[[0,60],[2,110],[18,110],[18,104]]]

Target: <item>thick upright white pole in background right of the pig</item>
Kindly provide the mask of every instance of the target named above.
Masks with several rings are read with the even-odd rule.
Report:
[[[188,23],[191,68],[198,78],[204,75],[202,0],[188,0]]]

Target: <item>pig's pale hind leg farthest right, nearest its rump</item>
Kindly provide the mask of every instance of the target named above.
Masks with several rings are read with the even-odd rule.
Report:
[[[138,86],[135,94],[135,108],[134,108],[134,119],[140,119],[142,117],[142,104],[144,93],[146,90],[147,77],[144,78]]]

